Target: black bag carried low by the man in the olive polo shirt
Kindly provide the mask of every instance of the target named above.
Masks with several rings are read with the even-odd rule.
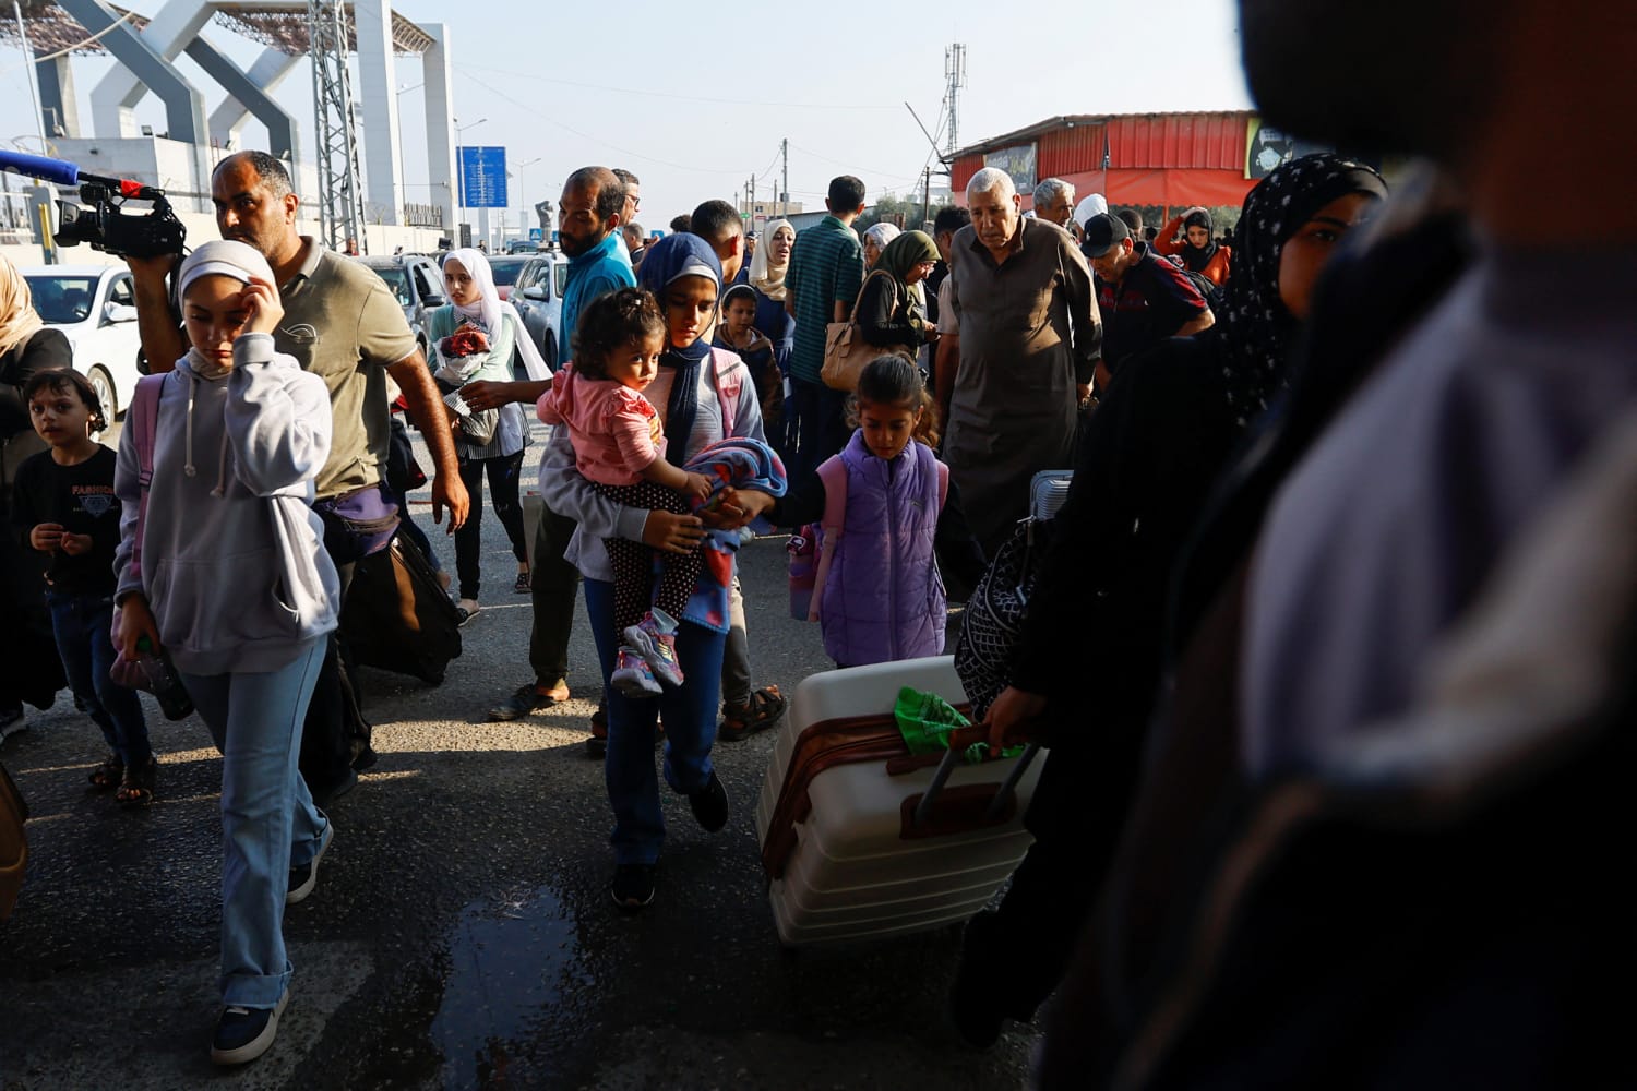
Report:
[[[409,674],[439,685],[460,658],[460,612],[437,572],[401,535],[359,561],[340,612],[340,635],[354,662]]]

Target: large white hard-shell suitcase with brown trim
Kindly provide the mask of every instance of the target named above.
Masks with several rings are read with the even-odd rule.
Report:
[[[963,921],[1028,851],[1033,748],[979,765],[954,751],[912,756],[892,715],[905,685],[966,703],[949,656],[828,671],[796,689],[756,801],[784,944]]]

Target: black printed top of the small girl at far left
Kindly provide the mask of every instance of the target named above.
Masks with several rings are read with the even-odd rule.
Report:
[[[51,451],[25,461],[16,471],[11,522],[25,550],[39,523],[61,523],[75,535],[90,535],[90,553],[56,551],[46,568],[52,590],[75,595],[111,595],[113,551],[120,545],[120,497],[113,494],[116,458],[106,447],[77,466],[59,466]]]

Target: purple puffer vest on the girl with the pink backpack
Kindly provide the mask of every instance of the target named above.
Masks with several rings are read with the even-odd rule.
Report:
[[[825,654],[850,667],[943,654],[936,456],[912,442],[887,463],[855,432],[838,458],[846,466],[846,522],[823,586]]]

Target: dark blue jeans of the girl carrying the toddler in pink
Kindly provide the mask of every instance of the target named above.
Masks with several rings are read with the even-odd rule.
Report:
[[[717,694],[722,680],[725,633],[683,622],[676,628],[676,658],[684,685],[666,685],[652,700],[630,700],[609,685],[619,635],[614,631],[614,584],[586,582],[586,617],[602,662],[609,698],[609,751],[602,761],[609,805],[614,808],[614,862],[653,864],[665,842],[660,779],[653,769],[653,725],[665,715],[665,782],[679,795],[710,783],[710,744],[715,743]]]

